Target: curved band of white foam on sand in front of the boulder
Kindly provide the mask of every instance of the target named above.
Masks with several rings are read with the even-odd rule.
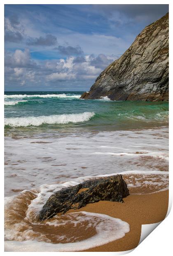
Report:
[[[35,240],[31,241],[34,234],[33,230],[30,229],[28,230],[28,232],[23,232],[25,234],[21,232],[21,235],[25,236],[27,233],[28,236],[23,237],[23,239],[32,237],[29,241],[5,241],[5,251],[82,251],[120,239],[124,237],[127,232],[130,231],[130,226],[128,223],[118,218],[112,218],[105,214],[89,213],[82,211],[79,213],[69,213],[68,215],[74,216],[77,214],[81,214],[77,218],[77,223],[82,223],[82,221],[88,221],[89,225],[94,226],[96,230],[96,235],[93,235],[92,237],[84,239],[80,242],[68,242],[65,244],[60,242],[57,244],[52,244],[48,242],[38,242]],[[48,221],[48,225],[49,224],[50,221]],[[58,221],[51,224],[58,225]],[[15,233],[15,230],[11,230],[11,232]]]

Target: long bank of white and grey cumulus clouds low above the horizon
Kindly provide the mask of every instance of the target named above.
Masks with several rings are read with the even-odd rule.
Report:
[[[111,57],[100,54],[69,56],[66,59],[34,62],[28,49],[16,50],[5,55],[5,81],[27,86],[28,84],[56,84],[57,81],[93,81],[112,62]],[[92,83],[92,82],[91,82]]]

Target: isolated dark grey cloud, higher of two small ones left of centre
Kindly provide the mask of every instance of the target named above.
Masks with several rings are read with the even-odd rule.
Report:
[[[30,38],[27,45],[42,45],[42,46],[51,46],[57,44],[56,36],[47,34],[45,36],[40,36],[39,38]]]

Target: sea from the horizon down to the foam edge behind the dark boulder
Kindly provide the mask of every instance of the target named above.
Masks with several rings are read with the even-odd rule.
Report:
[[[168,102],[80,100],[81,93],[5,92],[5,193],[168,170]]]

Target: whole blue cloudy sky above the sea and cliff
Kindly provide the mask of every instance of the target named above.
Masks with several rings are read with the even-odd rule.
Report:
[[[168,5],[5,5],[5,91],[86,91]]]

